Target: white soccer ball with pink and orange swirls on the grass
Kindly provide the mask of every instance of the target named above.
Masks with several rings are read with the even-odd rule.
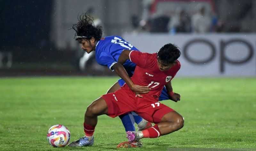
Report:
[[[64,125],[53,125],[48,130],[47,140],[53,147],[64,147],[70,140],[70,132]]]

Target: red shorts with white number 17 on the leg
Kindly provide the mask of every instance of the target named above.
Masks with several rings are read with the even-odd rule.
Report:
[[[136,97],[135,93],[124,87],[116,92],[102,95],[108,105],[108,116],[117,117],[134,111],[145,120],[151,123],[160,123],[162,117],[174,111],[168,106],[157,102],[153,96],[143,95],[143,98]]]

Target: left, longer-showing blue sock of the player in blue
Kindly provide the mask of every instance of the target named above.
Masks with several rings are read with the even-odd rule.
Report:
[[[135,131],[134,118],[131,113],[120,115],[119,118],[121,118],[126,132]]]

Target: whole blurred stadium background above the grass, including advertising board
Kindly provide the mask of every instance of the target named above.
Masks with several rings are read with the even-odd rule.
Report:
[[[74,40],[77,15],[90,11],[104,34],[143,52],[167,42],[182,52],[180,76],[255,76],[255,0],[0,1],[0,76],[115,75]],[[98,20],[96,20],[98,19]],[[83,70],[81,72],[80,70]]]

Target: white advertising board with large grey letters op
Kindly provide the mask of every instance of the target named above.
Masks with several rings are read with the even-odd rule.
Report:
[[[256,34],[124,34],[142,52],[181,50],[179,76],[256,76]]]

